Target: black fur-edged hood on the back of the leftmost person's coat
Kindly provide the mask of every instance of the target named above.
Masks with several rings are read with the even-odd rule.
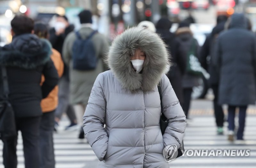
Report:
[[[0,47],[0,65],[34,69],[50,59],[51,48],[50,42],[34,34],[19,35],[12,43]]]

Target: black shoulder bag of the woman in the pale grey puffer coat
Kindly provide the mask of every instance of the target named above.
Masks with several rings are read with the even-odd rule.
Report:
[[[160,95],[160,101],[161,101],[160,129],[161,129],[162,135],[164,135],[164,131],[168,126],[168,120],[164,116],[164,113],[163,113],[161,86],[157,86],[157,88],[158,88],[158,92],[159,92],[159,95]],[[180,144],[180,148],[178,149],[178,156],[176,158],[182,156],[183,153],[184,153],[184,150],[185,150],[184,149],[184,143],[183,143],[183,140],[182,140],[182,143]]]

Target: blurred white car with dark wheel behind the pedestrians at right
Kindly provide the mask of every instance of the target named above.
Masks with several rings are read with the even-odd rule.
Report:
[[[171,32],[175,32],[178,28],[178,24],[172,24]],[[199,47],[204,45],[206,37],[212,32],[213,24],[190,24],[190,29],[193,32],[194,38],[197,40]],[[199,86],[193,87],[192,99],[204,98],[208,92],[209,84],[208,80],[203,76],[199,79]]]

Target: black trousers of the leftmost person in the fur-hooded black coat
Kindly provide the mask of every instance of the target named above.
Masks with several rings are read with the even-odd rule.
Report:
[[[23,151],[26,168],[39,168],[39,125],[41,116],[16,118],[17,131],[23,139]],[[18,135],[18,134],[17,134]],[[17,168],[17,136],[3,140],[3,159],[5,168]]]

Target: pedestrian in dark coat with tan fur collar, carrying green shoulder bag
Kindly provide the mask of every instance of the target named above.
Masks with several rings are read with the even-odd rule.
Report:
[[[178,52],[186,56],[188,52],[193,49],[193,53],[198,57],[198,42],[194,39],[193,33],[189,28],[189,24],[187,22],[181,22],[175,34],[178,42],[180,43]],[[182,79],[182,88],[184,96],[183,110],[187,118],[189,118],[188,111],[190,107],[192,88],[195,86],[199,86],[199,77],[193,74],[188,74],[186,71]]]

